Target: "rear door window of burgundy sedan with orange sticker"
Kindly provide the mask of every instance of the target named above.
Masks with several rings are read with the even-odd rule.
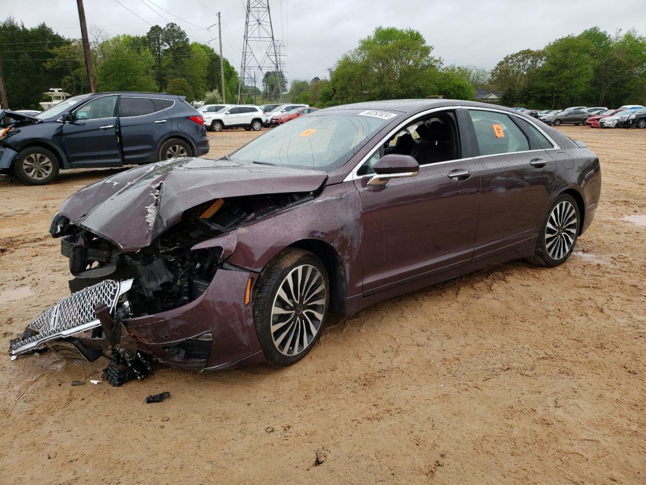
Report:
[[[527,137],[506,114],[475,109],[469,109],[468,112],[474,122],[480,155],[512,153],[529,149]]]

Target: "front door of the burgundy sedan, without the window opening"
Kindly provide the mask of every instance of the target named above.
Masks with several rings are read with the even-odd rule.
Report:
[[[480,177],[472,158],[461,159],[455,114],[452,119],[454,160],[422,163],[416,177],[393,178],[386,186],[370,186],[370,174],[355,180],[365,295],[470,262]],[[383,153],[382,146],[366,165],[373,166]]]

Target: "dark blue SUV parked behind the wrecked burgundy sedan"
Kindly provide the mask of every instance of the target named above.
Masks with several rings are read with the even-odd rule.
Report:
[[[30,116],[0,111],[0,173],[48,184],[60,169],[148,164],[209,152],[204,121],[183,96],[81,94]]]

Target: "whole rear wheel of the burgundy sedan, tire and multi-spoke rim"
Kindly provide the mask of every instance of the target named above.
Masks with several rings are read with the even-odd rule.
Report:
[[[536,253],[527,261],[549,267],[564,263],[574,250],[580,224],[581,215],[576,200],[568,194],[557,197],[541,226]]]

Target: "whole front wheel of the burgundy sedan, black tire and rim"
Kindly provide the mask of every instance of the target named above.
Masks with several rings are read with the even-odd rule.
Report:
[[[328,273],[313,253],[289,248],[267,264],[253,291],[253,319],[267,361],[286,366],[302,359],[320,338],[328,307]]]

